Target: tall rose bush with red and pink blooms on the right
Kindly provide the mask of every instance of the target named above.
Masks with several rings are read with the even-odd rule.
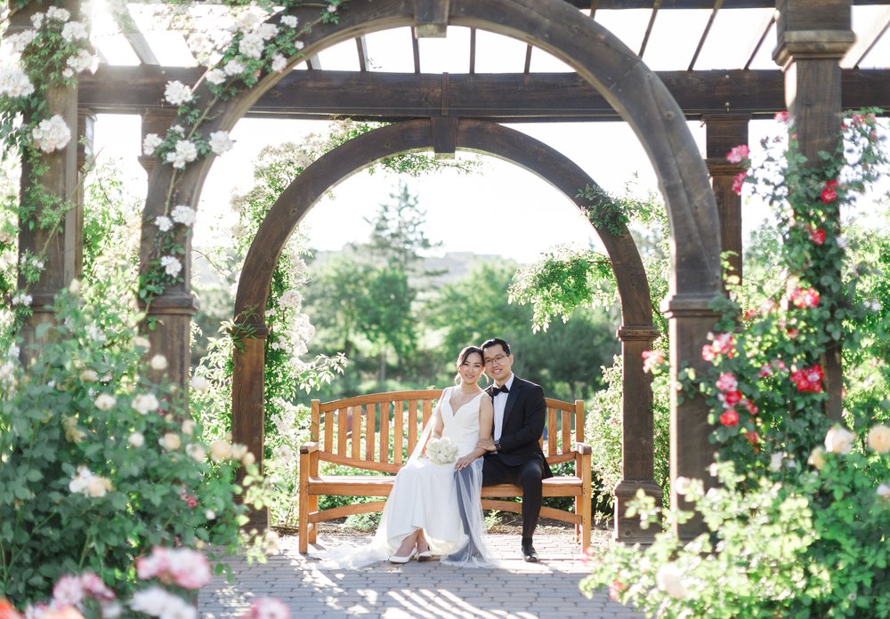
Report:
[[[768,141],[763,163],[740,173],[779,225],[755,238],[745,285],[717,301],[723,318],[702,342],[708,370],[680,372],[680,396],[708,400],[719,450],[716,486],[676,480],[708,532],[684,543],[668,530],[645,551],[595,553],[587,591],[609,587],[652,615],[890,615],[888,238],[838,226],[841,206],[886,173],[880,141],[874,115],[854,115],[837,156],[807,162],[793,141],[787,155]],[[746,167],[750,156],[729,154]],[[842,422],[825,408],[824,358],[836,342]],[[651,497],[635,510],[655,524]],[[667,524],[691,517],[675,511]]]

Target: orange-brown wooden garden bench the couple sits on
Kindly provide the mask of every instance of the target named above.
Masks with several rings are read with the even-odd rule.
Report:
[[[417,444],[417,437],[435,410],[440,390],[372,393],[331,402],[312,400],[312,442],[300,447],[300,552],[309,550],[316,524],[352,514],[382,511],[395,474]],[[543,518],[575,525],[582,550],[590,545],[590,446],[584,444],[584,402],[546,398],[545,438],[541,446],[551,466],[574,462],[574,475],[544,480],[544,496],[573,496],[574,513],[542,507]],[[366,475],[320,474],[320,462],[343,464]],[[374,474],[376,473],[376,474]],[[351,503],[319,510],[319,496],[379,496],[380,501]],[[518,502],[498,501],[522,496],[511,484],[482,488],[482,508],[520,513]]]

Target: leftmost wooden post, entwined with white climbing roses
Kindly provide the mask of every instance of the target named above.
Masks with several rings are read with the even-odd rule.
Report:
[[[72,15],[80,12],[78,0],[68,0],[62,6]],[[6,34],[12,35],[21,30],[31,28],[31,15],[43,7],[31,3],[12,15],[10,27]],[[19,288],[28,288],[33,310],[21,328],[22,346],[21,362],[28,366],[36,358],[40,342],[36,340],[37,326],[52,322],[53,296],[65,288],[77,272],[77,210],[73,199],[77,195],[77,85],[56,86],[46,92],[46,113],[49,116],[59,115],[68,125],[71,139],[64,149],[52,153],[42,153],[40,163],[45,165],[45,172],[36,176],[34,166],[28,161],[21,162],[21,195],[28,200],[31,188],[43,191],[49,197],[61,203],[69,203],[70,208],[64,215],[58,229],[42,229],[37,221],[42,216],[41,205],[27,219],[19,221],[19,255],[42,255],[44,269],[40,278],[28,284],[19,276]],[[57,208],[57,207],[56,207]],[[34,223],[30,229],[28,221]]]

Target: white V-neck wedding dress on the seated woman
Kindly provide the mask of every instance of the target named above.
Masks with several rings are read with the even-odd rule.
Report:
[[[457,446],[459,456],[469,454],[479,442],[479,406],[484,391],[453,410],[451,395],[459,387],[442,391],[439,414],[443,422],[442,438],[449,438]],[[398,550],[406,535],[424,529],[433,555],[441,556],[443,563],[466,567],[495,567],[485,543],[485,527],[479,502],[482,459],[477,458],[469,468],[473,470],[469,489],[464,491],[465,504],[470,505],[468,519],[473,532],[473,543],[478,553],[456,558],[449,554],[465,548],[467,535],[457,505],[457,482],[454,463],[437,464],[421,457],[426,440],[435,425],[430,420],[409,462],[399,470],[392,492],[386,500],[380,525],[374,539],[361,548],[342,547],[319,553],[322,567],[354,568],[367,566],[388,559]],[[458,457],[459,457],[458,456]]]

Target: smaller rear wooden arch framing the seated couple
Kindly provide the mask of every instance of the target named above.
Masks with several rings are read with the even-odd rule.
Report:
[[[445,126],[441,126],[445,125]],[[500,157],[535,173],[562,191],[582,212],[587,202],[578,189],[596,183],[568,157],[525,133],[496,123],[472,119],[418,119],[384,126],[345,142],[309,165],[272,205],[256,232],[235,297],[235,316],[248,312],[255,333],[266,334],[263,310],[271,289],[272,271],[287,238],[303,217],[328,190],[384,157],[439,146],[442,134],[453,141],[446,146]],[[651,349],[658,331],[652,325],[651,295],[643,261],[627,229],[613,236],[607,229],[595,230],[609,254],[621,301],[619,337],[627,363],[623,382],[624,466],[620,490],[643,487],[660,497],[653,478],[652,398],[649,380],[643,373],[643,350]],[[263,338],[246,342],[243,351],[234,352],[232,392],[232,438],[263,453]],[[629,488],[628,488],[629,490]],[[627,494],[627,493],[622,493]],[[629,494],[633,496],[633,494]],[[620,504],[619,504],[620,503]],[[616,535],[637,541],[651,536],[639,529],[636,519],[627,519],[625,500],[616,501]]]

